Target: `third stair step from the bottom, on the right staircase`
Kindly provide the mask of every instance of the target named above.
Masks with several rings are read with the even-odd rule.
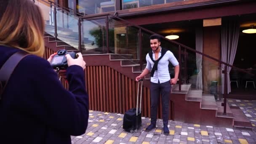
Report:
[[[218,110],[214,95],[212,94],[202,95],[201,109]]]

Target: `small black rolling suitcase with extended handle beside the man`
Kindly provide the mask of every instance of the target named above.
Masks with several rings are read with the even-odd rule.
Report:
[[[141,81],[141,94],[142,95],[142,83],[143,80],[139,80],[139,85]],[[130,133],[134,133],[139,127],[141,127],[141,96],[140,96],[140,105],[138,109],[139,102],[139,85],[138,85],[138,94],[137,94],[137,107],[129,109],[125,112],[123,117],[123,129]],[[138,112],[139,111],[139,112]]]

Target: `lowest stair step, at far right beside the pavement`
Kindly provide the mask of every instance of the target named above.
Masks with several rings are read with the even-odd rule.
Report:
[[[248,120],[248,118],[245,116],[245,114],[243,113],[243,111],[237,107],[233,107],[231,109],[231,111],[233,112],[233,115],[235,117],[234,119],[234,127],[238,127],[238,128],[253,128],[253,126],[251,125],[250,120]]]

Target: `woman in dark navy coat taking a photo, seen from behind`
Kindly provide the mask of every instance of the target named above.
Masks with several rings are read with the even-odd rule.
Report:
[[[44,21],[31,0],[0,0],[0,68],[18,51],[32,55],[14,69],[0,100],[0,144],[71,144],[85,133],[88,94],[82,55],[67,55],[69,91],[44,53]],[[49,61],[51,61],[52,56]]]

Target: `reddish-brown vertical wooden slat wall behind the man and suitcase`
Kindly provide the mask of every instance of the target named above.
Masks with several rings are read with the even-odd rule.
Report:
[[[136,107],[138,82],[108,66],[87,66],[85,77],[89,109],[124,114],[128,109]],[[162,117],[160,101],[158,118]],[[169,119],[172,119],[171,107],[170,102]],[[143,117],[150,117],[150,91],[144,86],[142,87],[141,112]]]

